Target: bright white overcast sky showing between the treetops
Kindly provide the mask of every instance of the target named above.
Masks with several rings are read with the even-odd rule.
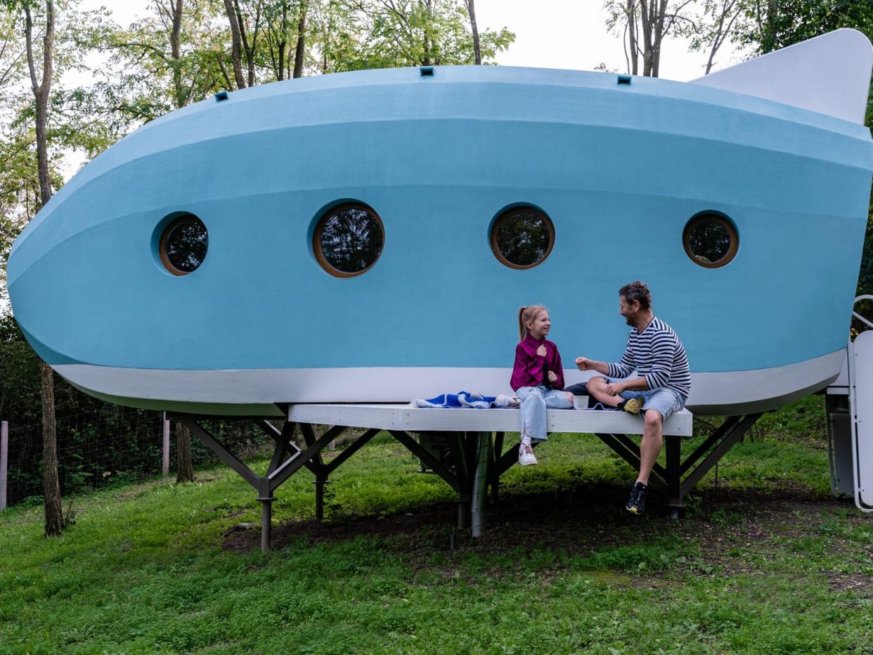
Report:
[[[81,4],[83,8],[100,5],[113,11],[116,22],[128,24],[145,13],[148,0],[85,0]],[[622,40],[607,33],[605,17],[602,0],[476,0],[480,31],[507,27],[515,32],[515,43],[498,56],[498,64],[503,66],[590,71],[604,63],[610,70],[624,72]],[[729,45],[720,55],[713,70],[741,59]],[[684,41],[664,41],[662,78],[685,81],[700,77],[705,63],[705,54],[688,52]]]

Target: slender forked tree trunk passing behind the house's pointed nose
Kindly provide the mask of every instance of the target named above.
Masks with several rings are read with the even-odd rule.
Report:
[[[39,206],[52,198],[52,178],[49,176],[48,140],[45,134],[49,92],[52,89],[54,64],[54,3],[45,2],[45,36],[43,37],[43,75],[37,80],[37,66],[33,56],[33,17],[30,4],[24,4],[24,38],[27,66],[31,73],[31,87],[36,104],[37,167],[39,173]],[[58,437],[55,431],[54,380],[52,369],[40,364],[40,394],[43,401],[43,481],[45,484],[45,536],[60,534],[64,529],[64,510],[60,504],[58,481]]]

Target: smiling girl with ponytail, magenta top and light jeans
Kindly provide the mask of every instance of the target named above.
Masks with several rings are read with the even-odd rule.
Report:
[[[569,410],[573,396],[564,391],[564,370],[558,347],[546,340],[552,328],[542,305],[519,307],[519,338],[510,386],[521,399],[519,464],[536,464],[531,441],[546,439],[546,407]]]

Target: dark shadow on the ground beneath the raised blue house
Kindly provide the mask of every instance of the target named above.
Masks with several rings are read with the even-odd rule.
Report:
[[[647,514],[624,509],[625,486],[574,486],[549,493],[501,493],[486,507],[485,530],[478,539],[458,529],[457,505],[439,503],[415,511],[387,515],[334,515],[327,521],[287,521],[272,528],[272,548],[299,541],[339,543],[376,538],[389,550],[408,553],[415,561],[434,552],[507,553],[541,547],[554,552],[590,554],[681,540],[718,558],[738,543],[801,534],[820,514],[846,512],[847,502],[801,485],[776,490],[704,490],[691,496],[683,517],[670,520],[656,493]],[[235,530],[223,541],[225,550],[260,548],[260,526]],[[664,545],[664,544],[662,544]]]

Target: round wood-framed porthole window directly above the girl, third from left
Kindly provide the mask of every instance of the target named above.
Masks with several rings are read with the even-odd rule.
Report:
[[[542,264],[554,245],[554,226],[549,217],[533,207],[513,207],[491,226],[491,250],[510,268],[533,268]]]

